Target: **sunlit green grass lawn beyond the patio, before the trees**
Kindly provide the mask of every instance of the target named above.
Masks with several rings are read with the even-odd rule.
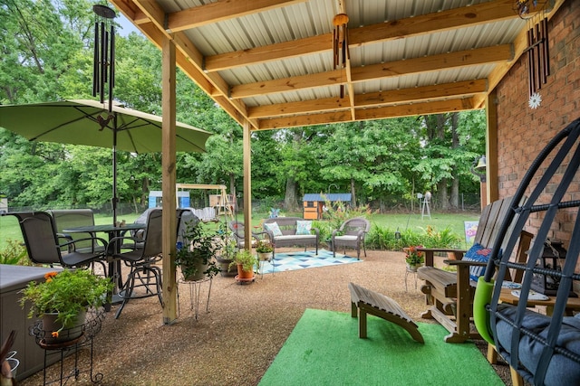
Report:
[[[288,216],[302,217],[301,212],[286,214]],[[121,217],[119,217],[119,220],[132,222],[137,217],[139,217],[139,213],[123,214]],[[243,217],[243,213],[237,214],[238,220],[242,220]],[[254,213],[252,223],[254,225],[258,225],[260,221],[266,217],[267,213]],[[397,229],[400,231],[404,231],[406,229],[411,231],[421,231],[426,229],[429,225],[437,231],[449,227],[454,233],[463,236],[465,234],[464,221],[478,221],[478,219],[478,213],[474,212],[431,212],[431,218],[427,216],[421,218],[420,212],[416,212],[410,214],[373,214],[371,217],[371,222],[376,223],[382,228],[391,229],[392,231],[396,231]],[[97,224],[105,224],[111,221],[111,216],[99,214],[95,215],[95,223]],[[5,247],[6,240],[23,240],[20,228],[18,227],[18,222],[13,216],[0,216],[0,249]]]

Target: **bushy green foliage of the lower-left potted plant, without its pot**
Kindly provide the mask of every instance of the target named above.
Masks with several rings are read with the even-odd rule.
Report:
[[[44,278],[41,283],[28,283],[22,290],[20,305],[24,307],[26,301],[32,303],[28,313],[30,318],[58,313],[56,321],[63,324],[61,330],[70,327],[82,310],[103,306],[113,287],[109,278],[93,275],[89,269],[48,272]]]

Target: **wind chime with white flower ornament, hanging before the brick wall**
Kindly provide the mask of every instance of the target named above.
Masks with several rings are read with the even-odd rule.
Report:
[[[546,4],[544,4],[546,5]],[[517,0],[517,14],[523,19],[529,13],[531,7],[537,6],[536,0]],[[547,37],[547,18],[544,9],[537,17],[527,22],[527,81],[528,81],[528,106],[538,108],[542,102],[539,89],[546,84],[550,75],[550,52]],[[531,20],[538,20],[532,22]]]

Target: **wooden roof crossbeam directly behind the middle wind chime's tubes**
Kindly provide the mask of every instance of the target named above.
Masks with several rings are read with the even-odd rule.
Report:
[[[516,17],[512,0],[491,1],[434,14],[352,28],[349,30],[349,46],[354,48]],[[208,56],[204,70],[208,72],[223,71],[266,61],[283,61],[296,56],[328,52],[332,50],[331,41],[332,33],[324,33],[292,42],[280,42],[243,51]]]

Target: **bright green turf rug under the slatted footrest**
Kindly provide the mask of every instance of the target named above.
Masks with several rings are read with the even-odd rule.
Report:
[[[440,325],[418,323],[425,344],[368,315],[368,338],[350,314],[307,309],[260,386],[503,385],[475,344],[446,344]]]

